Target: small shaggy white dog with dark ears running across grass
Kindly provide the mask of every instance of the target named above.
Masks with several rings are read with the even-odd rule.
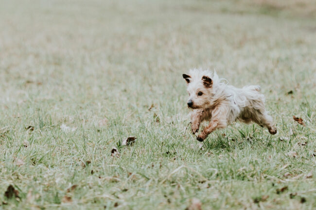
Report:
[[[224,83],[224,79],[219,79],[216,72],[212,77],[210,71],[200,69],[190,70],[189,75],[182,76],[188,84],[188,107],[193,109],[193,134],[198,132],[202,121],[210,121],[196,137],[198,141],[204,141],[213,130],[225,128],[237,120],[244,123],[255,122],[267,128],[271,134],[277,133],[272,117],[265,111],[260,86],[236,88]]]

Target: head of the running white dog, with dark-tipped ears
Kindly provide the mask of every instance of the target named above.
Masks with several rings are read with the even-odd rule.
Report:
[[[189,93],[188,107],[191,109],[205,109],[210,105],[212,96],[211,73],[193,69],[189,74],[183,74],[183,79],[187,81],[187,91]]]

